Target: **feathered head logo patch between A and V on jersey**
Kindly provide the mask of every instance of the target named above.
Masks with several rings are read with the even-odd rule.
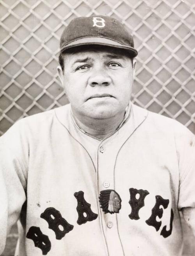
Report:
[[[112,189],[100,191],[99,203],[104,213],[119,213],[121,209],[121,197]]]

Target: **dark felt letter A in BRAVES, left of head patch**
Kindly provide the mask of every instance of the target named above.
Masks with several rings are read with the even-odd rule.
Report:
[[[90,208],[91,205],[85,201],[83,191],[75,192],[74,197],[76,197],[77,200],[76,211],[78,212],[78,225],[95,220],[98,215],[92,212]]]

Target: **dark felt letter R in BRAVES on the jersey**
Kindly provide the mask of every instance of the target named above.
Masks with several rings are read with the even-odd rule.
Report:
[[[53,207],[49,207],[44,213],[41,213],[41,218],[48,222],[49,229],[55,232],[55,237],[58,240],[62,239],[74,227],[62,218],[60,212]]]

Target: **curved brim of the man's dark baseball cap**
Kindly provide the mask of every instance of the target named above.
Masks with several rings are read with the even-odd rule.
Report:
[[[118,43],[116,41],[113,41],[107,38],[101,38],[101,37],[80,38],[71,43],[68,43],[67,45],[62,45],[62,47],[60,48],[60,52],[63,52],[66,49],[70,49],[80,45],[107,45],[110,47],[129,50],[129,52],[131,52],[132,57],[135,57],[138,54],[137,50],[131,46],[122,45],[121,43]]]

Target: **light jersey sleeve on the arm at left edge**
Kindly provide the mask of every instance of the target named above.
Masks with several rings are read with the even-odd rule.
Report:
[[[27,143],[21,121],[0,137],[0,254],[26,200]]]

